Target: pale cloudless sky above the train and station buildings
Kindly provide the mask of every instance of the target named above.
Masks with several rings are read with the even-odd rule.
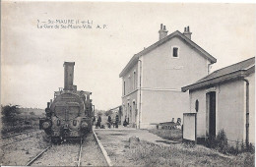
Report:
[[[96,109],[120,105],[119,74],[159,40],[160,24],[168,34],[189,26],[192,40],[217,58],[212,72],[256,53],[255,4],[3,1],[1,8],[1,104],[45,108],[72,61],[74,84],[93,92]],[[48,20],[93,25],[40,28],[63,25]]]

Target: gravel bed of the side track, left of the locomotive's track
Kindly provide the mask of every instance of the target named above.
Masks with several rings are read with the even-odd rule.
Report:
[[[32,136],[29,139],[24,139]],[[12,139],[1,139],[1,145],[10,143],[15,140],[24,139],[11,143],[0,150],[0,165],[26,165],[37,153],[47,147],[45,134],[42,131],[36,131],[32,134],[25,134]]]

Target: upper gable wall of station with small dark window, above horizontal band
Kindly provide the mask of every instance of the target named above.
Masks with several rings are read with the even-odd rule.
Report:
[[[171,47],[179,47],[173,58]],[[143,56],[144,87],[174,88],[195,83],[207,76],[207,59],[180,37],[173,37]]]

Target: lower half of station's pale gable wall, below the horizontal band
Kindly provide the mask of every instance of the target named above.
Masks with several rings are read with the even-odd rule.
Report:
[[[188,92],[142,90],[142,123],[147,128],[151,123],[177,121],[188,112]]]

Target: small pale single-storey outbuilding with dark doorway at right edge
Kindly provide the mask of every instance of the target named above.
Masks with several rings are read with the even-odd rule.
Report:
[[[254,87],[255,57],[217,70],[196,83],[182,87],[182,91],[189,90],[190,113],[196,115],[195,133],[192,133],[195,139],[216,137],[219,131],[224,130],[230,142],[254,144]]]

